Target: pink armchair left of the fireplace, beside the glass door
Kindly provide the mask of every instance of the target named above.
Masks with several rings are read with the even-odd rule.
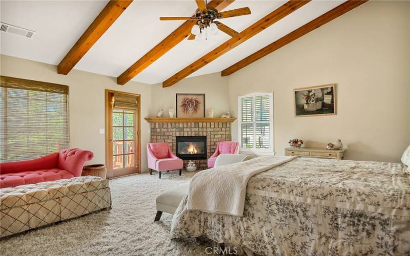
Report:
[[[161,178],[161,172],[179,169],[179,175],[182,173],[182,159],[172,153],[168,143],[148,143],[148,168],[150,174],[152,170],[156,170]]]

